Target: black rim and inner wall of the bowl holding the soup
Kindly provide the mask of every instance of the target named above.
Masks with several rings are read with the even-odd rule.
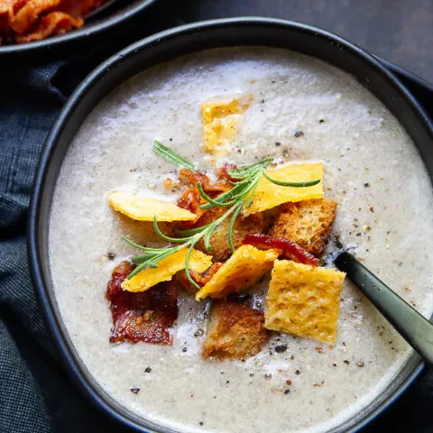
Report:
[[[138,431],[170,431],[141,419],[113,401],[80,361],[65,329],[51,287],[48,221],[51,198],[69,143],[86,116],[125,79],[158,62],[192,51],[235,45],[267,45],[299,51],[343,69],[364,84],[392,113],[418,146],[433,174],[433,127],[428,115],[388,69],[373,56],[340,37],[309,25],[265,18],[235,18],[194,23],[139,41],[106,60],[78,87],[62,110],[41,155],[29,218],[29,260],[41,309],[69,373],[89,399],[113,418]],[[355,431],[394,401],[422,369],[414,354],[382,394],[332,432]]]

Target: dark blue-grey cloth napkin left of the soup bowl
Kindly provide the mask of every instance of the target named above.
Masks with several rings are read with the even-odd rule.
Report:
[[[59,64],[2,70],[0,82],[0,432],[119,431],[62,370],[34,298],[25,219],[42,143],[65,101]]]

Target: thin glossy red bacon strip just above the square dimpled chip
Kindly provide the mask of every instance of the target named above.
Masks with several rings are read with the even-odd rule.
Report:
[[[244,244],[253,245],[256,248],[269,249],[276,248],[281,250],[282,255],[293,262],[318,266],[318,258],[305,251],[299,244],[295,244],[289,239],[275,238],[268,235],[246,235]]]

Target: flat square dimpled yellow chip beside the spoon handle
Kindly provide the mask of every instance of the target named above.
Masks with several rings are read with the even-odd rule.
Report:
[[[264,327],[333,344],[344,280],[334,269],[276,260]]]

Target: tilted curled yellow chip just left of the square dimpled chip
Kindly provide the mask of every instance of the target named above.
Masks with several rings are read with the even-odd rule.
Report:
[[[196,293],[196,299],[222,298],[228,293],[253,285],[272,268],[278,257],[276,250],[258,250],[252,245],[242,245],[224,263],[207,284]]]

